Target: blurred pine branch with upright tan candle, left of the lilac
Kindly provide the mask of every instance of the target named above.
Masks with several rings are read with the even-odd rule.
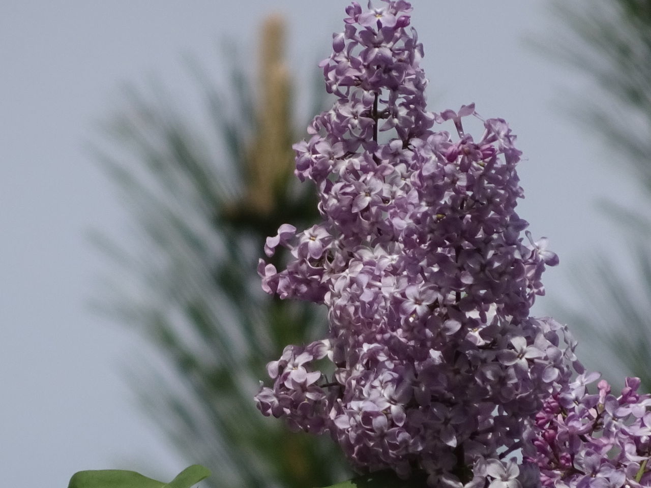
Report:
[[[313,189],[293,176],[292,144],[309,121],[294,124],[283,20],[270,16],[260,33],[255,75],[232,50],[229,86],[195,70],[210,131],[165,94],[134,89],[111,118],[96,155],[135,244],[96,239],[115,264],[99,305],[158,351],[159,363],[133,361],[133,390],[180,454],[212,470],[207,486],[326,486],[350,477],[335,443],[291,433],[253,401],[266,363],[327,327],[313,304],[265,295],[256,275],[267,236],[318,218]],[[322,105],[315,96],[312,114]]]

